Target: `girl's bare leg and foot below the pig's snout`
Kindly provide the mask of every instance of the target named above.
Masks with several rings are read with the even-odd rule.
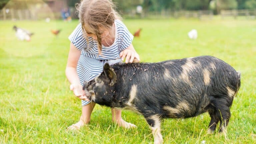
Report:
[[[68,127],[68,130],[79,130],[82,126],[88,124],[91,120],[92,110],[95,106],[94,102],[91,102],[82,107],[82,115],[80,120],[76,124],[72,124]]]

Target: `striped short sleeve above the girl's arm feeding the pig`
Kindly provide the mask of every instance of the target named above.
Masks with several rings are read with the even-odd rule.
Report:
[[[87,41],[86,41],[85,37],[83,36],[81,23],[79,23],[77,25],[77,27],[71,33],[71,35],[68,37],[68,39],[80,51],[87,47]]]

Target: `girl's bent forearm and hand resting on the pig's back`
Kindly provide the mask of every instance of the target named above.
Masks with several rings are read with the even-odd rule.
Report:
[[[120,52],[120,57],[122,61],[125,59],[125,63],[140,62],[140,56],[137,54],[132,44]]]

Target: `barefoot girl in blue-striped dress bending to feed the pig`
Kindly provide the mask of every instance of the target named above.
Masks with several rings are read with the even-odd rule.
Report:
[[[84,81],[94,79],[105,63],[139,62],[139,55],[132,45],[133,35],[120,20],[111,0],[83,0],[78,6],[80,24],[69,36],[70,50],[66,76],[70,90],[82,100],[80,121],[68,129],[80,129],[91,120],[95,103],[90,102],[82,90]],[[121,117],[121,110],[111,109],[112,121],[130,128]]]

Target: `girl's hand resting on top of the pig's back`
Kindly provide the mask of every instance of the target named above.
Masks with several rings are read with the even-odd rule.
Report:
[[[132,63],[134,59],[140,61],[140,56],[135,51],[129,49],[120,52],[120,57],[122,58],[122,61],[125,59],[125,63]]]

